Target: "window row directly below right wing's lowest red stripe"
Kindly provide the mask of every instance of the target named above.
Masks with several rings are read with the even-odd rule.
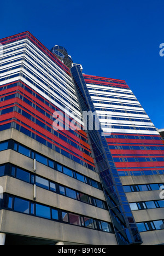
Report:
[[[151,167],[152,168],[152,167]],[[164,174],[164,168],[163,170],[148,170],[148,171],[119,171],[118,170],[119,176],[148,176],[148,175],[162,175]]]

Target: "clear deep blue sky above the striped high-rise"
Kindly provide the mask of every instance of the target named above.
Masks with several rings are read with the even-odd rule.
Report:
[[[163,0],[7,0],[1,36],[30,31],[64,46],[85,74],[126,80],[154,125],[164,128]]]

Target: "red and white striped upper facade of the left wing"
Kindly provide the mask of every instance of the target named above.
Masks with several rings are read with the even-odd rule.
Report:
[[[11,127],[89,168],[95,165],[69,68],[30,32],[0,40],[1,130]],[[54,112],[61,112],[54,131]],[[68,116],[67,116],[68,114]],[[75,119],[81,129],[69,129]]]

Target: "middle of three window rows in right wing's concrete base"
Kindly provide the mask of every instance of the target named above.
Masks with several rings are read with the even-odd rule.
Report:
[[[147,202],[134,202],[134,203],[130,203],[130,207],[131,207],[132,211],[163,208],[164,207],[164,200],[147,201]]]

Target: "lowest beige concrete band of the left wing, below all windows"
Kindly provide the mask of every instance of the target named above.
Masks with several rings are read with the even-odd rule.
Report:
[[[1,210],[1,232],[83,245],[117,245],[114,234]]]

